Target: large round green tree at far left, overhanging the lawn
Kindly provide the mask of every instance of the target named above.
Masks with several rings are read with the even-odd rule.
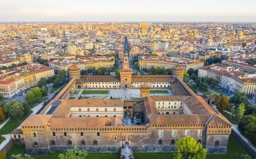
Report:
[[[4,105],[4,111],[9,117],[19,119],[24,115],[24,107],[20,100],[13,100],[10,103]]]

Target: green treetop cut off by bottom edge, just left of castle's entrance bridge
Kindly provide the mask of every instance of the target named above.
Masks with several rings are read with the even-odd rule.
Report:
[[[67,149],[64,153],[59,154],[59,159],[85,159],[87,151],[80,150],[75,146],[74,148]]]

